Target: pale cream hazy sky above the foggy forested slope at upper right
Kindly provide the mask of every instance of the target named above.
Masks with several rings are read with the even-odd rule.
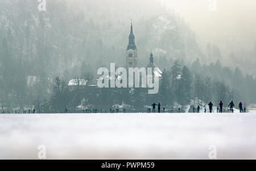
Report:
[[[256,0],[159,0],[177,12],[196,32],[201,42],[222,49],[251,49],[256,41]],[[205,42],[206,41],[206,42]]]

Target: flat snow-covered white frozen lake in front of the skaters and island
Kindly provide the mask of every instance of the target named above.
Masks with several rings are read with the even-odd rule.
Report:
[[[0,159],[256,159],[256,113],[0,114]]]

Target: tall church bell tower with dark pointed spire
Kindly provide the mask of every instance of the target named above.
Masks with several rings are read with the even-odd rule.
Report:
[[[135,36],[133,35],[133,23],[131,23],[131,31],[129,35],[129,44],[126,49],[126,68],[137,67],[137,48],[135,45]]]

